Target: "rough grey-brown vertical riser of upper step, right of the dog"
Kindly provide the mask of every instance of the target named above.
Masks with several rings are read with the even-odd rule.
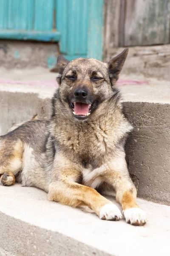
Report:
[[[126,143],[138,196],[170,205],[170,104],[125,102],[134,126]]]

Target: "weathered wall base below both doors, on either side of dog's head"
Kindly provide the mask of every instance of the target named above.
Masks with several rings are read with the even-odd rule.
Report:
[[[122,52],[111,44],[104,52],[104,61]],[[7,69],[52,68],[55,66],[59,47],[57,43],[40,43],[0,40],[0,67]],[[148,47],[129,47],[122,74],[144,75],[157,79],[170,80],[170,44]]]

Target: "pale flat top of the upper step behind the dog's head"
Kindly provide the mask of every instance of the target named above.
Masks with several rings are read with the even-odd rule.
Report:
[[[55,81],[57,73],[50,73],[48,69],[42,67],[23,70],[0,69],[0,76],[2,91],[33,92],[38,93],[40,98],[51,98],[57,87]],[[20,84],[17,84],[18,82]],[[170,81],[137,75],[121,75],[118,87],[122,92],[123,100],[127,102],[170,103]]]

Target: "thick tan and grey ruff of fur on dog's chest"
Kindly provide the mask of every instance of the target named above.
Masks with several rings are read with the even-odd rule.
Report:
[[[120,128],[123,122],[120,115],[116,116],[116,125],[107,116],[75,126],[63,123],[62,129],[57,128],[55,134],[60,148],[70,160],[81,164],[84,169],[94,170],[113,157],[117,143],[126,133]]]

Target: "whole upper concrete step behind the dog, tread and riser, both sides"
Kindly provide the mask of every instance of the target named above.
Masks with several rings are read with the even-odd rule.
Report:
[[[0,74],[6,79],[6,82],[0,80],[0,134],[32,117],[49,117],[57,74],[43,68],[3,69]],[[119,86],[125,115],[134,126],[126,151],[138,196],[170,205],[170,81],[139,76],[122,76],[121,79],[147,81],[147,84]]]

